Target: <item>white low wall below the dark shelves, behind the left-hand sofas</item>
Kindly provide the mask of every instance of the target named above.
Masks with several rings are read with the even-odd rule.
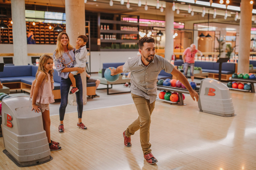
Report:
[[[53,45],[28,44],[27,45],[28,53],[53,53],[55,48],[56,48],[56,44],[53,44]],[[91,72],[98,72],[100,69],[102,69],[102,63],[125,62],[129,57],[137,56],[138,51],[92,51],[91,52]],[[0,44],[0,53],[13,53],[13,44]],[[7,56],[7,57],[14,57],[14,56]],[[89,56],[87,56],[87,62],[90,62]],[[0,56],[0,63],[3,63],[3,56]],[[28,63],[32,64],[31,56],[28,56]]]

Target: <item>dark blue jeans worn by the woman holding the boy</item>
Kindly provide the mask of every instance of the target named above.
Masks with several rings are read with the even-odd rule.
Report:
[[[76,79],[76,87],[79,89],[78,92],[76,92],[76,101],[77,101],[77,112],[78,112],[78,118],[82,118],[83,113],[83,85],[82,85],[82,79],[80,74],[74,75]],[[69,88],[71,86],[72,82],[69,78],[64,79],[61,77],[60,82],[60,121],[64,120],[66,107],[68,104],[68,95],[69,95]]]

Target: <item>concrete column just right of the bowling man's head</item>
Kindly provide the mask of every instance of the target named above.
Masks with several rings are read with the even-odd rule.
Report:
[[[172,10],[172,3],[166,2],[165,8],[165,58],[171,60],[174,48],[174,11]]]

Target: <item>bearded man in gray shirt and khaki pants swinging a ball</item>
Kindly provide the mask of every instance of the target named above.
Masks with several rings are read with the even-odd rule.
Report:
[[[124,65],[111,69],[111,75],[122,72],[131,72],[131,95],[137,108],[139,118],[135,120],[124,132],[124,146],[131,147],[131,135],[140,129],[140,143],[144,159],[149,164],[154,164],[157,159],[151,153],[149,143],[149,128],[151,114],[155,107],[157,96],[157,76],[161,70],[171,73],[188,89],[193,100],[198,101],[198,94],[192,89],[186,77],[165,58],[155,55],[155,39],[143,37],[139,40],[141,56],[128,59]],[[194,98],[195,97],[195,98]]]

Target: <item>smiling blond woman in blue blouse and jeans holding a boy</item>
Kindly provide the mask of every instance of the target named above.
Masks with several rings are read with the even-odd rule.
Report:
[[[78,112],[78,123],[77,128],[86,130],[87,128],[82,123],[82,112],[83,112],[83,86],[80,73],[84,72],[84,68],[74,67],[75,54],[79,52],[79,46],[76,45],[76,48],[69,43],[69,38],[67,33],[61,32],[57,38],[57,47],[53,53],[53,61],[58,71],[58,75],[61,77],[60,82],[60,94],[61,94],[61,103],[59,109],[60,115],[60,125],[59,133],[64,132],[64,115],[66,111],[66,106],[68,104],[68,95],[69,89],[71,86],[71,80],[68,77],[69,72],[78,71],[78,74],[75,75],[76,86],[79,91],[76,93],[77,99],[77,112]]]

